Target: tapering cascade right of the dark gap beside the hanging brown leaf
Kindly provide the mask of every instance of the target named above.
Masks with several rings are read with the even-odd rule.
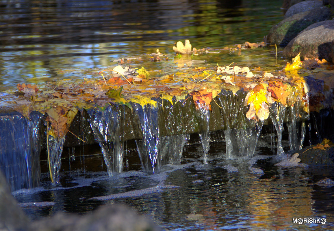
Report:
[[[108,175],[123,171],[124,106],[108,106],[103,112],[94,109],[88,111],[95,139],[99,142]]]

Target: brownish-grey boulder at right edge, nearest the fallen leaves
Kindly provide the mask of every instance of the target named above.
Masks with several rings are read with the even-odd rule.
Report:
[[[284,48],[283,56],[295,57],[301,52],[302,59],[319,58],[333,61],[334,20],[310,25],[300,32]]]

